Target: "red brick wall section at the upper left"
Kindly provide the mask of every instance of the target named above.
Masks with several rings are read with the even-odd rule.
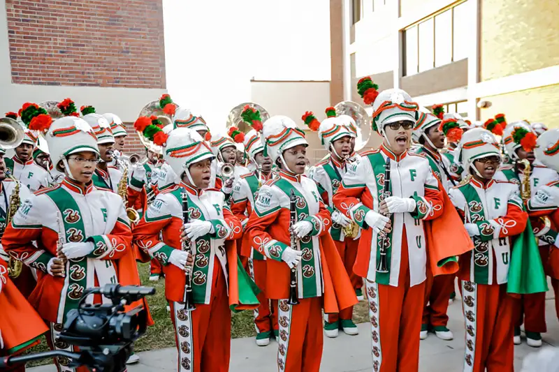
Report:
[[[162,0],[6,0],[12,82],[161,88]]]

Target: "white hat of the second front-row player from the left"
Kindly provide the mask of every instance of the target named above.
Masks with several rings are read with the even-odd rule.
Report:
[[[213,159],[215,155],[202,136],[191,128],[176,128],[170,131],[163,151],[163,158],[176,174],[175,183],[180,183],[185,172],[194,184],[188,171],[192,163]]]

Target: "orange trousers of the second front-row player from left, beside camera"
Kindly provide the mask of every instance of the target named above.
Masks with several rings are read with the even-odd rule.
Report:
[[[196,304],[185,311],[170,302],[179,352],[179,372],[227,372],[231,354],[231,310],[221,265],[214,266],[210,304]]]

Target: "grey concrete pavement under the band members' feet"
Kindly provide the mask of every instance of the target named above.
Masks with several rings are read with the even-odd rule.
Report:
[[[559,322],[549,292],[546,301],[548,332],[544,334],[544,346],[559,348]],[[429,334],[421,341],[419,356],[420,372],[460,372],[464,357],[464,323],[461,302],[457,299],[449,306],[449,328],[454,333],[453,341],[442,341]],[[419,309],[418,309],[419,310]],[[358,325],[358,336],[347,336],[340,332],[337,338],[324,337],[324,352],[321,371],[357,372],[372,371],[370,354],[370,327],[368,323]],[[418,334],[419,337],[419,334]],[[514,348],[515,371],[521,371],[522,359],[537,349],[530,348],[523,339],[522,345]],[[229,371],[275,372],[277,343],[266,347],[256,346],[254,338],[236,338],[231,341],[231,364]],[[175,348],[140,352],[140,363],[129,367],[129,372],[176,371],[177,352]],[[53,372],[54,366],[29,369],[31,372]]]

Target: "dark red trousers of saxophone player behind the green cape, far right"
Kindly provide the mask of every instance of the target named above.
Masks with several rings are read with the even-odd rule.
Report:
[[[549,246],[540,246],[539,255],[545,263],[549,257]],[[514,327],[524,323],[526,332],[547,332],[546,326],[546,294],[545,292],[521,295],[514,301]]]

